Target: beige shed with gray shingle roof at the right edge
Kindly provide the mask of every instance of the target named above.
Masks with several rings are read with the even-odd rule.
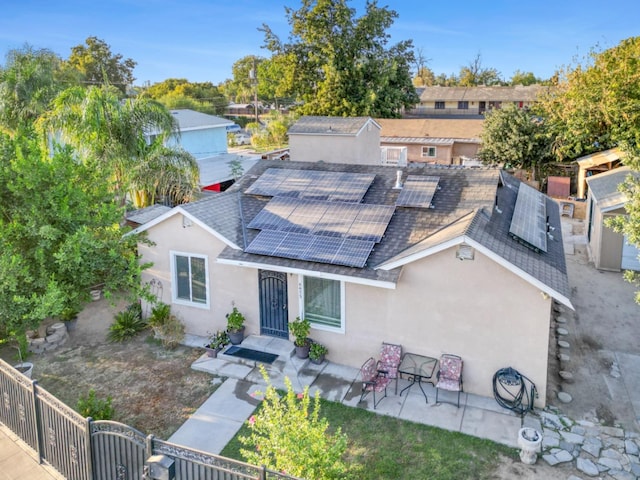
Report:
[[[593,263],[598,270],[640,271],[640,250],[627,241],[627,237],[607,227],[608,218],[626,215],[626,196],[618,188],[628,175],[639,176],[629,167],[587,177],[588,228],[587,237]]]

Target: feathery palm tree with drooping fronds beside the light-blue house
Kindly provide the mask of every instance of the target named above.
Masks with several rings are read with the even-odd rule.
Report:
[[[81,161],[102,170],[123,207],[132,191],[146,192],[142,196],[152,199],[158,189],[165,194],[178,188],[184,201],[198,189],[193,157],[160,148],[169,135],[177,134],[177,124],[171,112],[154,100],[121,100],[119,91],[109,85],[72,87],[56,97],[39,125],[73,146]],[[145,134],[151,132],[157,137],[150,146]]]

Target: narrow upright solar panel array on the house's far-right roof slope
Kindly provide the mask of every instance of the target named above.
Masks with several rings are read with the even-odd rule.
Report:
[[[509,234],[536,252],[547,251],[547,204],[542,193],[524,183],[509,226]]]

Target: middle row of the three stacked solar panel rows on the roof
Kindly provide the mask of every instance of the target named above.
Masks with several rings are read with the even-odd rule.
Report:
[[[394,210],[391,205],[274,197],[248,227],[377,243]]]

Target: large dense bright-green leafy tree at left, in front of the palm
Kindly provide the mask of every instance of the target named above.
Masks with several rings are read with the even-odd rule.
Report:
[[[136,295],[140,239],[123,237],[113,196],[70,148],[49,156],[33,131],[0,135],[0,200],[0,331],[77,311],[95,285]]]

